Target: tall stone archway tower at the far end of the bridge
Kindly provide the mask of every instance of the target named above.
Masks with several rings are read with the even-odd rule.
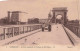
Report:
[[[56,18],[58,15],[62,15],[61,18],[61,24],[67,23],[67,8],[66,7],[59,7],[59,8],[53,8],[53,17],[52,17],[52,23],[56,23]]]

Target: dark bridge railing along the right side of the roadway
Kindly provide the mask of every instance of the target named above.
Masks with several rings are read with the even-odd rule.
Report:
[[[67,24],[65,25],[69,30],[71,30],[75,35],[77,35],[78,37],[80,37],[80,29],[79,29],[79,25],[70,25]]]

